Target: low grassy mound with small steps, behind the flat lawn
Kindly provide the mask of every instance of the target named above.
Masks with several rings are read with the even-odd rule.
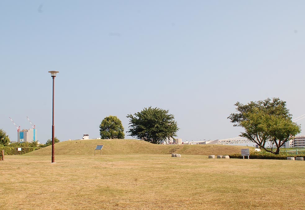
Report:
[[[89,139],[63,141],[55,144],[56,155],[94,155],[96,145],[104,145],[102,154],[168,154],[177,145],[156,145],[135,139]],[[176,153],[189,155],[227,155],[240,153],[247,146],[232,145],[183,145]],[[25,155],[51,155],[52,146],[48,146]],[[96,150],[100,153],[100,150]]]

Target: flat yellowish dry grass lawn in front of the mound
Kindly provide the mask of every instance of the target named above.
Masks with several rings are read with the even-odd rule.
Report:
[[[169,154],[55,160],[6,156],[0,162],[0,208],[305,209],[305,161]]]

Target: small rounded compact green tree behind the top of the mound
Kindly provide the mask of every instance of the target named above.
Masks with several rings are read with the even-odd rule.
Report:
[[[100,124],[101,139],[124,139],[124,127],[117,116],[105,117]]]

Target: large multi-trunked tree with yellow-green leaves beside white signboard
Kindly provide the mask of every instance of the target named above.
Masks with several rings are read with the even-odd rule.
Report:
[[[256,143],[267,152],[279,154],[280,147],[301,132],[300,125],[292,122],[286,102],[279,98],[251,101],[246,105],[237,102],[235,106],[237,113],[231,113],[228,119],[235,123],[234,126],[244,128],[241,137]]]

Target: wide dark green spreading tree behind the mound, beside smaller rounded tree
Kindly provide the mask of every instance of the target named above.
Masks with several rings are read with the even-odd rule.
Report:
[[[160,144],[168,137],[177,136],[179,130],[174,115],[160,108],[144,108],[141,112],[128,114],[130,135],[154,144]]]

